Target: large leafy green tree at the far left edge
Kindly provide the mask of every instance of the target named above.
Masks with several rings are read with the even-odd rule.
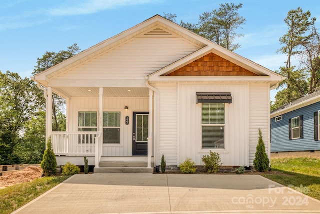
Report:
[[[13,153],[14,146],[21,143],[24,124],[43,105],[38,101],[36,85],[18,74],[0,72],[0,164],[16,164],[20,160]]]

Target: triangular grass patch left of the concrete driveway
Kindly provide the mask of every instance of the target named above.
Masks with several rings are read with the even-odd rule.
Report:
[[[0,214],[11,213],[68,177],[42,177],[0,189]]]

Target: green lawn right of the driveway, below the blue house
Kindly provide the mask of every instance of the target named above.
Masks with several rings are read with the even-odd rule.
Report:
[[[271,159],[271,169],[285,174],[261,175],[320,200],[320,159]]]

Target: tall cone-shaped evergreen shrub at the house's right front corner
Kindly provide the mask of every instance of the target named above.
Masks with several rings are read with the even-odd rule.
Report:
[[[259,131],[258,144],[256,145],[256,151],[253,160],[253,167],[256,171],[265,172],[269,169],[269,158],[265,152],[264,142],[262,140],[261,129]]]

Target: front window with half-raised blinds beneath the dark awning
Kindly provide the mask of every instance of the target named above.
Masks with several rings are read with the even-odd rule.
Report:
[[[201,104],[202,148],[224,148],[224,103]]]

